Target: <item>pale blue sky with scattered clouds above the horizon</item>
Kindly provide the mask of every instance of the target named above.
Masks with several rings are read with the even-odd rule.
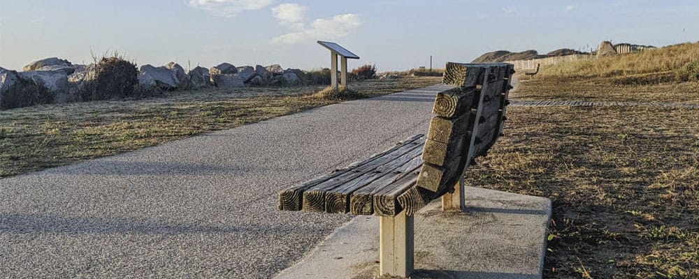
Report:
[[[663,46],[699,40],[699,1],[0,0],[0,67],[15,70],[115,51],[138,65],[329,67],[317,40],[379,71],[602,40]]]

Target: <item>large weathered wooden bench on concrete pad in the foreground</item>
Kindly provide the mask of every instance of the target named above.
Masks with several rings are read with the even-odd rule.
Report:
[[[282,190],[279,209],[380,216],[380,274],[413,271],[413,214],[442,197],[463,209],[463,172],[503,130],[512,64],[447,63],[427,135]]]

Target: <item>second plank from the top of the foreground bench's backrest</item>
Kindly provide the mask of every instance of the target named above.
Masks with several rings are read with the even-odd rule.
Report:
[[[463,115],[471,109],[474,87],[458,87],[437,93],[432,113],[444,119]]]

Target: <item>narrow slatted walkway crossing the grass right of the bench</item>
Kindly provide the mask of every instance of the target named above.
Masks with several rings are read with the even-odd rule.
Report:
[[[624,101],[584,100],[512,100],[513,107],[677,107],[699,109],[699,104],[688,103],[641,103]]]

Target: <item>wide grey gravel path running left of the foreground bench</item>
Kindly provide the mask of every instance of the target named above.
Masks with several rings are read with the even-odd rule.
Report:
[[[424,133],[444,88],[0,179],[0,278],[270,278],[351,218],[278,191]]]

